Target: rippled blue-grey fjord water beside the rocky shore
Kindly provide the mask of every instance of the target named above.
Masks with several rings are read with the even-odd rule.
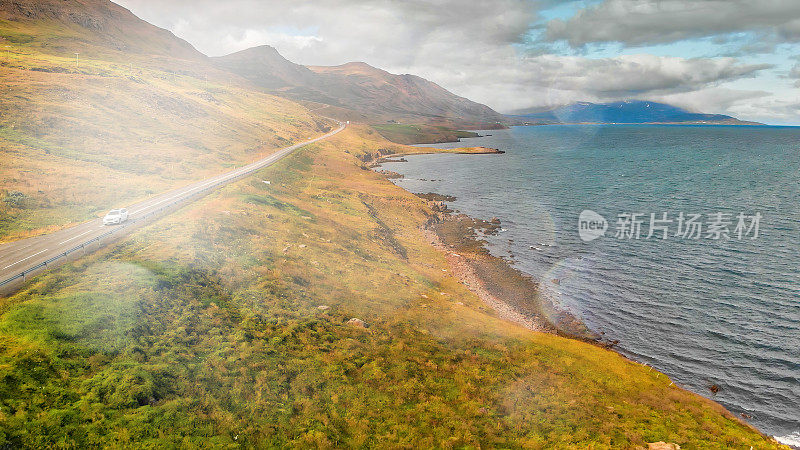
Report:
[[[420,155],[384,167],[451,208],[498,217],[491,251],[629,357],[800,445],[800,129],[723,126],[536,126],[485,131],[438,147],[505,155]],[[578,217],[609,222],[579,238]],[[650,213],[761,213],[759,236],[644,239]],[[617,239],[619,214],[642,238]],[[750,221],[748,221],[748,225]],[[705,230],[704,233],[705,235]],[[732,233],[733,234],[733,233]],[[717,385],[718,393],[710,387]]]

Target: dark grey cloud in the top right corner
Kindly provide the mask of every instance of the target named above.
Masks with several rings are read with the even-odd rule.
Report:
[[[547,24],[549,41],[628,46],[754,32],[800,41],[797,0],[605,0]],[[741,37],[740,37],[741,38]]]

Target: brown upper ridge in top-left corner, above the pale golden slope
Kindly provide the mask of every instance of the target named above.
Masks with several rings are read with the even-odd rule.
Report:
[[[181,60],[206,56],[171,32],[107,0],[0,0],[2,38],[49,53],[107,54],[108,50]],[[48,32],[40,33],[43,24]]]

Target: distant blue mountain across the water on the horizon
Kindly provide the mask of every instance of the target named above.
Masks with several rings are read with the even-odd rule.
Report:
[[[613,103],[579,102],[553,109],[520,111],[512,114],[525,123],[697,123],[760,125],[723,114],[691,112],[666,103],[627,100]]]

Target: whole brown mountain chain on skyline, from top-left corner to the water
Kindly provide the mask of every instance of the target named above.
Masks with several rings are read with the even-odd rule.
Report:
[[[423,78],[364,63],[306,67],[269,46],[208,58],[108,0],[0,0],[0,21],[0,42],[59,57],[74,59],[79,53],[80,59],[116,60],[214,80],[245,78],[268,93],[311,109],[325,107],[325,114],[348,120],[487,128],[505,120],[491,108]]]

